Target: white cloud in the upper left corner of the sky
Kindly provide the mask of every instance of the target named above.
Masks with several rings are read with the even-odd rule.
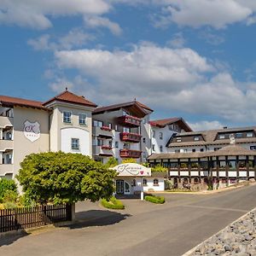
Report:
[[[45,29],[49,16],[102,15],[110,8],[105,0],[0,0],[0,23]]]

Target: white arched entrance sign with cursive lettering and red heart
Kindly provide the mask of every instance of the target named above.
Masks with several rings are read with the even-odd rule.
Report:
[[[132,176],[132,177],[144,177],[151,176],[151,168],[147,168],[138,164],[121,164],[119,166],[113,167],[119,174],[118,176]]]

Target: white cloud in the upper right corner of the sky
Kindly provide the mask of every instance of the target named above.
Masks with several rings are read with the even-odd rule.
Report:
[[[241,21],[251,24],[256,10],[255,1],[250,0],[163,0],[158,4],[164,7],[155,26],[168,26],[174,22],[179,26],[219,29]]]

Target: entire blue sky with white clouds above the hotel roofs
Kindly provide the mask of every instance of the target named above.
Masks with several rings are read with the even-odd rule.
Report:
[[[67,86],[195,130],[255,125],[255,13],[253,0],[0,0],[0,94]]]

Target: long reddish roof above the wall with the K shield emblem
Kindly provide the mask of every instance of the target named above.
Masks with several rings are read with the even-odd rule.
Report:
[[[38,109],[49,110],[49,108],[45,108],[43,106],[42,102],[31,101],[31,100],[26,100],[26,99],[17,98],[17,97],[11,97],[11,96],[0,96],[0,104],[6,107],[20,106],[20,107],[27,107],[27,108],[38,108]]]

